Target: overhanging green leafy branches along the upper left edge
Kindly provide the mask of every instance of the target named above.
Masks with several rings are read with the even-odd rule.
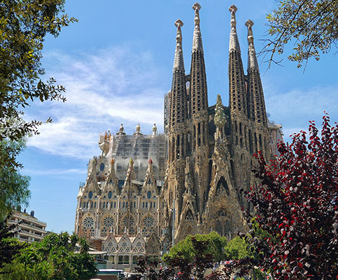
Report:
[[[57,37],[74,21],[64,14],[64,0],[0,1],[0,141],[38,133],[41,121],[22,120],[22,109],[34,100],[65,100],[64,87],[54,78],[41,80],[41,51],[47,34]],[[20,166],[15,153],[0,148],[2,163],[12,169]]]

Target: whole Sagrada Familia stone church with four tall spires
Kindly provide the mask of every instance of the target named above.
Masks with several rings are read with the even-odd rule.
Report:
[[[248,69],[244,73],[232,5],[229,106],[220,95],[208,104],[199,6],[195,11],[190,73],[185,73],[183,22],[177,20],[171,90],[164,96],[164,134],[99,135],[101,155],[88,165],[80,187],[75,232],[106,251],[113,267],[132,266],[139,255],[159,255],[187,235],[216,231],[231,239],[245,230],[239,188],[257,183],[253,153],[276,154],[281,125],[270,123],[248,20]],[[250,209],[252,210],[252,209]],[[115,264],[115,266],[114,266]]]

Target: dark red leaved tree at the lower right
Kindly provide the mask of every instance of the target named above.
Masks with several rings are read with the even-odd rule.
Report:
[[[309,141],[302,131],[279,152],[272,165],[255,155],[262,183],[247,193],[271,236],[262,241],[251,230],[248,238],[260,267],[274,279],[338,279],[338,125],[325,115],[321,134],[310,122]]]

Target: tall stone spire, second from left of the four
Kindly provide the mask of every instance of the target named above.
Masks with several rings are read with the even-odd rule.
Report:
[[[201,6],[195,3],[195,31],[192,39],[192,57],[190,68],[190,97],[192,123],[194,126],[195,145],[192,148],[207,145],[208,135],[208,93],[206,90],[206,71],[202,46],[201,30],[199,29],[199,10]]]

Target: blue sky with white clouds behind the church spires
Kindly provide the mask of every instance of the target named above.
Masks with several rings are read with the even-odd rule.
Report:
[[[123,123],[128,133],[140,123],[148,134],[153,123],[163,132],[163,96],[171,87],[176,27],[184,22],[185,69],[190,71],[194,12],[190,0],[68,0],[66,12],[78,23],[58,38],[48,37],[43,50],[46,76],[66,87],[67,102],[34,102],[26,119],[46,120],[41,134],[31,137],[20,155],[22,174],[31,176],[28,210],[55,232],[73,231],[76,195],[87,176],[87,162],[99,155],[100,132],[115,133]],[[206,61],[209,105],[221,94],[228,103],[227,55],[230,12],[237,8],[237,32],[246,71],[247,29],[253,20],[255,48],[268,38],[265,15],[274,0],[202,0],[201,30]],[[319,62],[310,60],[305,73],[283,59],[283,67],[259,57],[265,102],[270,119],[283,125],[286,139],[307,130],[309,120],[321,124],[323,111],[338,120],[337,56],[332,50]]]

